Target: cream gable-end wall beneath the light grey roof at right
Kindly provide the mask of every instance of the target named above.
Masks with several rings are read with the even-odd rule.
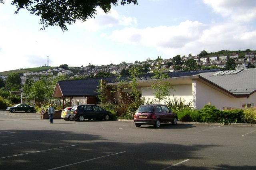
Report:
[[[220,110],[222,110],[223,107],[239,109],[242,108],[242,104],[249,103],[252,103],[253,106],[256,105],[256,94],[251,95],[250,98],[231,98],[197,80],[193,80],[192,86],[195,97],[195,107],[197,109],[202,109],[204,105],[209,102],[211,102],[212,106],[216,106],[216,108]]]

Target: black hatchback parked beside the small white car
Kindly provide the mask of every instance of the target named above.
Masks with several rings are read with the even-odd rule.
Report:
[[[110,120],[112,113],[94,104],[76,105],[71,109],[70,119],[74,119],[74,121],[84,121],[84,119]]]

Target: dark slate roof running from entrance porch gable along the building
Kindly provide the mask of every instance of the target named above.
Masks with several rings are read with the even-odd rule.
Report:
[[[208,70],[191,70],[191,71],[180,71],[180,72],[168,72],[168,76],[181,77],[181,76],[192,76],[204,72],[216,72],[219,69],[208,69]],[[151,80],[154,74],[141,74],[139,80]],[[128,76],[123,76],[121,80],[128,80]],[[78,80],[62,80],[58,81],[55,90],[54,97],[88,97],[97,96],[97,86],[99,86],[99,80],[105,80],[107,83],[114,83],[116,77],[103,77],[103,78],[87,78]],[[61,94],[61,95],[60,95]]]

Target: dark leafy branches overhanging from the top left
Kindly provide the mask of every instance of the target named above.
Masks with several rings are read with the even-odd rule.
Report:
[[[121,5],[137,4],[137,0],[120,0]],[[4,0],[0,0],[4,3]],[[108,13],[111,6],[117,6],[118,0],[13,0],[12,5],[20,9],[26,8],[30,14],[41,16],[41,29],[57,25],[61,29],[68,30],[66,24],[71,25],[76,20],[86,21],[94,18],[97,14],[97,7]]]

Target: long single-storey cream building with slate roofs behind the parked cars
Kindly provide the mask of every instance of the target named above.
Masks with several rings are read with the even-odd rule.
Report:
[[[172,90],[169,98],[182,98],[185,102],[192,102],[193,106],[201,109],[209,102],[217,109],[252,107],[256,101],[256,68],[246,70],[192,70],[167,73],[175,91]],[[138,79],[137,89],[146,99],[154,99],[154,91],[150,88],[154,80],[153,74],[142,74]],[[58,81],[53,97],[68,98],[70,105],[82,100],[83,103],[97,104],[99,80],[103,79],[107,86],[116,86],[115,77],[92,78],[80,80]],[[130,82],[126,82],[129,84]],[[130,92],[123,89],[122,94]],[[112,96],[114,100],[116,96]],[[81,104],[81,103],[80,103]]]

